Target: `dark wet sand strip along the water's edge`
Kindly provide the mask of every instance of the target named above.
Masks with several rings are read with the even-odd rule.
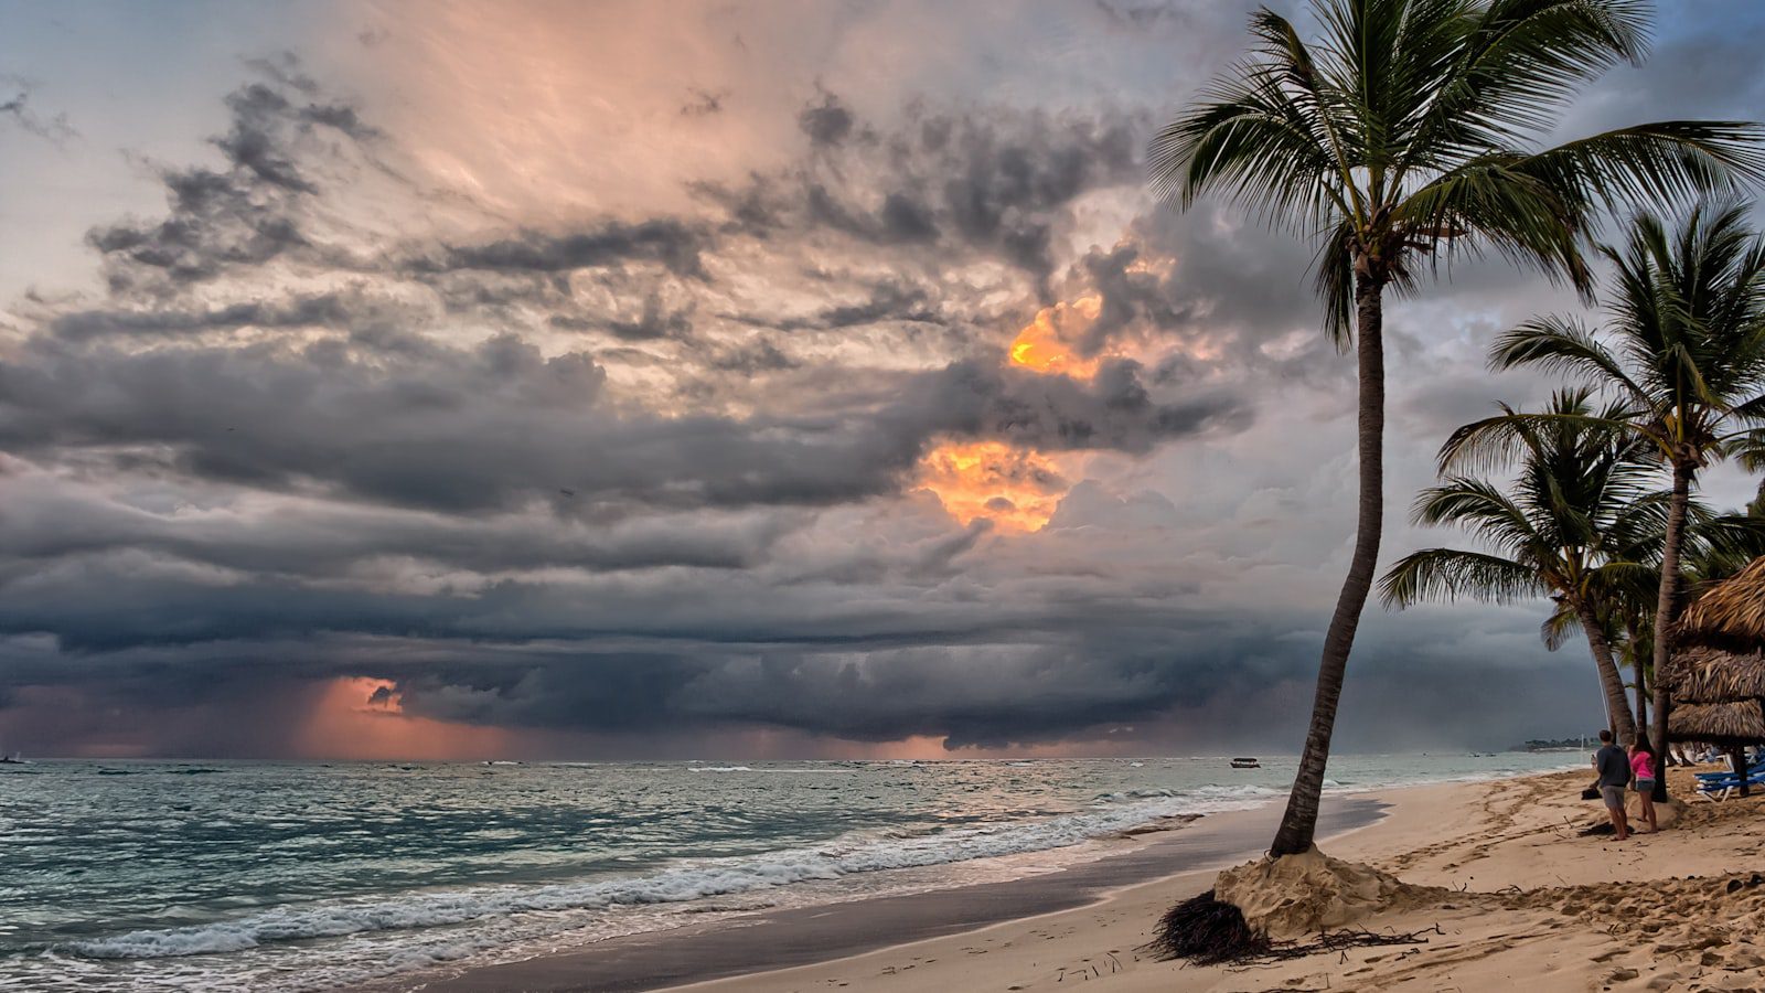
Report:
[[[1334,845],[1377,830],[1417,790],[1479,790],[1557,772],[1426,783],[1326,797],[1318,838]],[[777,908],[734,919],[607,938],[512,961],[388,977],[360,993],[641,993],[741,982],[974,935],[997,926],[1096,908],[1121,892],[1158,885],[1211,885],[1211,873],[1262,853],[1280,818],[1276,802],[1221,811],[1126,852],[1008,882],[967,883],[900,896]],[[1197,889],[1195,892],[1200,892]],[[1186,894],[1193,896],[1193,894]],[[1119,952],[1115,952],[1119,954]]]

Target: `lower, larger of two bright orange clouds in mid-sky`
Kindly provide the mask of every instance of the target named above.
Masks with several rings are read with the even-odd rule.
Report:
[[[948,442],[920,461],[920,488],[964,525],[987,518],[1036,532],[1054,516],[1068,482],[1047,456],[1001,442]]]

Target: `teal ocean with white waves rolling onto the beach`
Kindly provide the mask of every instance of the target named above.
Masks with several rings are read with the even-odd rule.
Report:
[[[1583,762],[1336,756],[1327,790]],[[1294,763],[0,765],[0,989],[330,989],[1015,878],[1278,800]]]

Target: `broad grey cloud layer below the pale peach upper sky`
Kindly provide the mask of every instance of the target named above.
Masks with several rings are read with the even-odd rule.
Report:
[[[798,141],[782,164],[695,180],[688,208],[507,217],[415,178],[399,129],[298,60],[251,71],[217,161],[152,166],[164,212],[90,231],[104,292],[16,309],[14,728],[74,749],[120,714],[152,747],[263,753],[311,703],[289,687],[369,675],[409,714],[627,753],[752,728],[805,749],[1290,744],[1350,521],[1352,369],[1317,334],[1310,246],[1144,201],[1161,111],[884,115],[805,87],[771,108]],[[748,99],[671,92],[671,127]],[[1078,299],[1096,318],[1063,334],[1093,376],[1004,362]],[[1553,300],[1477,269],[1398,309],[1394,504],[1442,429],[1536,387],[1490,382],[1481,336]],[[1064,491],[1050,525],[951,519],[916,489],[943,442],[1070,459],[1013,468]],[[1371,622],[1348,740],[1592,721],[1587,666],[1543,657],[1534,624]],[[154,731],[168,714],[198,730]]]

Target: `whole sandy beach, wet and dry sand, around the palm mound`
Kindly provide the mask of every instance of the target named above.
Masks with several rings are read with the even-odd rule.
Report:
[[[888,906],[851,903],[701,931],[678,929],[637,944],[473,970],[425,988],[697,993],[1018,991],[1064,989],[1070,982],[1123,993],[1472,991],[1521,984],[1541,991],[1761,988],[1765,956],[1754,935],[1765,924],[1765,878],[1753,875],[1765,871],[1761,797],[1664,809],[1661,834],[1617,843],[1610,836],[1578,834],[1603,820],[1597,802],[1578,799],[1585,781],[1585,772],[1562,772],[1391,790],[1338,802],[1324,850],[1416,887],[1401,908],[1361,924],[1375,931],[1428,931],[1426,942],[1414,945],[1320,952],[1239,968],[1165,963],[1140,952],[1165,908],[1209,889],[1221,866],[1243,860],[1246,846],[1264,843],[1273,811],[1246,811],[1204,818],[1168,839],[1135,848],[1123,857],[1138,860],[1117,862],[1114,871],[1093,869],[1089,880],[1063,880],[1082,883],[1064,898],[1082,901],[1080,906],[1041,912],[1050,892],[1059,896],[1047,878],[1015,896],[983,892],[987,887],[941,891]],[[1675,774],[1673,786],[1686,795],[1689,774]],[[1366,825],[1370,811],[1382,816]],[[1177,848],[1183,843],[1188,852]],[[1147,871],[1158,859],[1205,868],[1107,885]],[[980,926],[960,924],[964,906]],[[817,921],[822,931],[815,931]],[[911,933],[914,926],[932,936],[890,940],[891,933]],[[875,947],[875,942],[888,944]],[[870,951],[849,954],[867,945]],[[697,968],[729,972],[741,968],[736,965],[741,961],[766,965],[681,982]],[[646,970],[650,977],[642,979]]]

